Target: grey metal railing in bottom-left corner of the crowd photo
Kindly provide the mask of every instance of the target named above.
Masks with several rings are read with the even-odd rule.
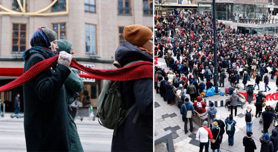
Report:
[[[175,151],[174,146],[173,146],[172,131],[167,130],[166,132],[156,135],[154,138],[155,138],[154,144],[158,144],[158,143],[166,141],[167,150],[169,152]]]

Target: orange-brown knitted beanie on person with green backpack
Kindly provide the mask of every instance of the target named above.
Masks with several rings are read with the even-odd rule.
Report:
[[[142,47],[152,36],[152,30],[143,25],[134,24],[124,27],[124,39],[134,46]]]

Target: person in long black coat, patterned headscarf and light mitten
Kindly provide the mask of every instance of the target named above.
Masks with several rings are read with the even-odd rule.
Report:
[[[31,37],[31,49],[22,56],[23,72],[56,54],[57,35],[38,28]],[[52,48],[51,50],[48,48]],[[72,55],[60,52],[58,65],[23,84],[24,133],[27,151],[70,151],[68,109],[64,81],[71,73]],[[61,60],[64,58],[65,60]],[[55,70],[55,72],[54,72]]]

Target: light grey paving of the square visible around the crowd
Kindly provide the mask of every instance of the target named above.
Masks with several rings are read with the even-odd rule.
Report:
[[[158,59],[158,64],[160,66],[163,66],[165,68],[165,71],[168,71],[169,69],[166,67],[166,64],[164,63],[163,58]],[[270,75],[269,75],[270,78]],[[242,83],[240,80],[239,83]],[[251,83],[255,83],[253,79],[251,79]],[[229,82],[227,79],[225,79],[224,88],[229,86]],[[244,92],[243,84],[239,84],[239,92]],[[274,80],[269,79],[269,87],[271,88],[271,91],[266,93],[274,93],[276,90],[275,82]],[[224,91],[224,88],[220,88],[222,91]],[[257,89],[257,87],[256,87]],[[260,89],[264,90],[264,84],[263,82],[260,83]],[[255,93],[258,91],[255,90]],[[194,130],[192,133],[188,132],[187,134],[184,133],[184,122],[182,121],[182,116],[180,114],[180,109],[177,105],[167,105],[165,101],[160,97],[159,94],[156,94],[154,91],[154,97],[155,97],[155,131],[159,134],[162,132],[165,132],[167,130],[171,130],[173,132],[173,142],[175,145],[175,151],[198,151],[199,150],[199,141],[195,139],[196,132],[199,128],[198,125],[196,125],[193,122]],[[207,97],[205,99],[218,99],[219,96],[212,96]],[[222,97],[223,98],[223,97]],[[225,96],[224,96],[225,98]],[[267,101],[266,105],[272,105],[275,107],[277,101]],[[245,116],[244,111],[247,107],[246,103],[242,106],[242,109],[238,106],[237,107],[237,116],[234,117],[234,120],[237,122],[236,124],[236,131],[234,134],[234,145],[229,146],[228,145],[228,136],[225,133],[223,135],[222,144],[220,145],[221,151],[244,151],[244,146],[242,144],[242,139],[244,136],[246,136],[246,122],[245,122]],[[252,109],[255,110],[256,107],[254,106],[254,103],[251,103]],[[218,114],[221,116],[221,119],[224,121],[226,117],[229,116],[230,111],[228,111],[227,108],[223,107],[217,107]],[[261,118],[255,118],[253,119],[253,126],[252,126],[252,132],[254,141],[257,146],[257,150],[260,151],[261,143],[259,141],[259,138],[262,136],[261,130],[263,129],[263,125],[259,124],[259,120]],[[189,124],[188,124],[189,127]],[[270,125],[270,128],[268,129],[268,133],[271,135],[271,130],[273,129],[273,125]],[[211,151],[211,146],[210,146]]]

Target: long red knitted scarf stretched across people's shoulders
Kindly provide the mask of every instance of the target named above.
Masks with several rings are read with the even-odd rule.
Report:
[[[0,92],[8,91],[35,78],[40,72],[48,70],[50,67],[57,64],[58,56],[43,60],[23,73],[16,80],[0,87]],[[153,63],[149,61],[136,62],[129,66],[118,69],[93,69],[85,67],[76,60],[72,60],[71,67],[82,70],[88,74],[82,74],[84,78],[112,81],[129,81],[142,78],[153,78]],[[0,73],[1,74],[1,73]],[[8,76],[8,75],[2,75]]]

